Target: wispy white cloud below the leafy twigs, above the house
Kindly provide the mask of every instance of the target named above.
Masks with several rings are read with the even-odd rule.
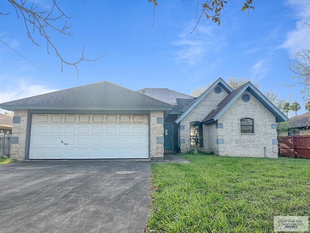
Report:
[[[172,42],[172,45],[180,48],[176,52],[176,58],[192,66],[199,63],[207,53],[220,49],[224,42],[223,37],[214,33],[213,25],[198,25],[191,33],[194,26],[194,23],[188,25],[179,34],[179,39]]]

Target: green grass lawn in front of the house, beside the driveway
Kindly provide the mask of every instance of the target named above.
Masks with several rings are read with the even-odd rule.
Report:
[[[310,216],[310,160],[183,157],[152,164],[149,233],[269,233],[274,216]]]

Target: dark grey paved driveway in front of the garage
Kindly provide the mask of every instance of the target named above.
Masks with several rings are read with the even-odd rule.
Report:
[[[148,161],[46,161],[0,166],[1,233],[142,233]]]

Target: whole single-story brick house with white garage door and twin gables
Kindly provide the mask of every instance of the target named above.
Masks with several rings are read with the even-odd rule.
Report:
[[[162,159],[196,147],[277,158],[276,123],[287,120],[253,84],[232,90],[221,78],[198,98],[105,81],[0,107],[15,111],[11,157],[19,160]]]

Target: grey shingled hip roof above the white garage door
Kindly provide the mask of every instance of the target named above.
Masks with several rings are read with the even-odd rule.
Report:
[[[104,81],[1,103],[0,108],[7,110],[171,110],[173,106]]]

